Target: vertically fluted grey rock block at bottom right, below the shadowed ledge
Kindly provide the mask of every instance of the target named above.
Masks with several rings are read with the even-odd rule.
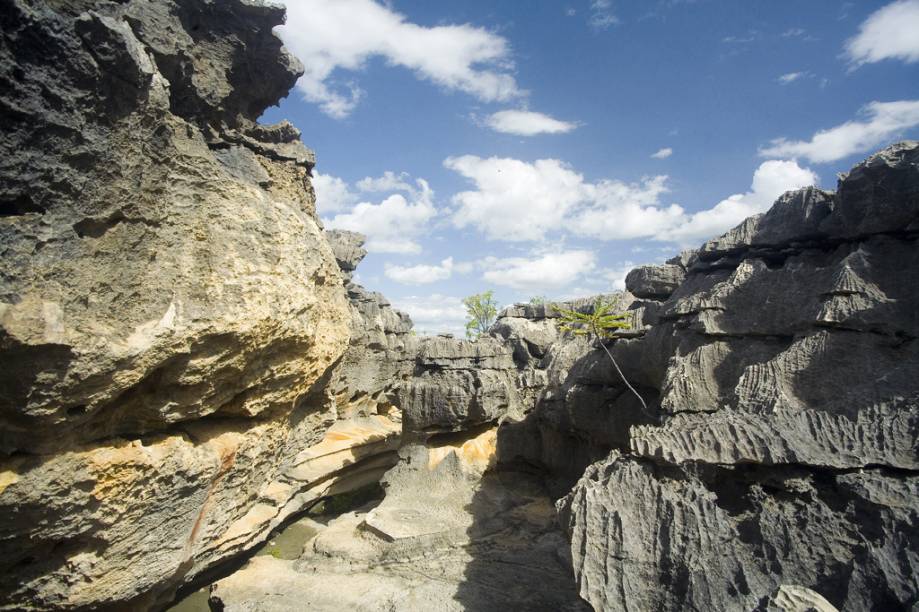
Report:
[[[884,469],[693,473],[614,452],[560,510],[598,610],[752,610],[802,583],[839,609],[897,609],[915,594],[915,555],[897,551],[911,550],[917,486]]]

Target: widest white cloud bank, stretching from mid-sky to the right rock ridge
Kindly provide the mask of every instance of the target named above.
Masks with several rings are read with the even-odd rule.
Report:
[[[785,191],[817,181],[811,170],[797,162],[770,160],[756,170],[750,191],[732,195],[710,209],[687,213],[664,200],[669,189],[663,175],[635,183],[613,179],[592,183],[554,159],[528,163],[465,156],[448,159],[446,166],[471,179],[476,187],[454,196],[453,223],[504,241],[568,234],[691,244],[763,212]]]

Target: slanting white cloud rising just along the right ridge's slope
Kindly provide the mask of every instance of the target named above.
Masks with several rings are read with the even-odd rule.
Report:
[[[723,234],[750,215],[769,210],[786,191],[816,182],[816,174],[793,161],[763,162],[753,174],[750,191],[729,196],[708,210],[689,215],[658,238],[694,246]]]

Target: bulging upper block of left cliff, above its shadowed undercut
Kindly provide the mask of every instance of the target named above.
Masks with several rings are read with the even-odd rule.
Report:
[[[0,450],[289,411],[348,326],[309,155],[254,122],[298,75],[271,33],[283,12],[3,16]]]

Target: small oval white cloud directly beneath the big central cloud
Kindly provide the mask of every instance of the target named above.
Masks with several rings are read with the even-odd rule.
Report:
[[[559,251],[534,258],[487,257],[482,279],[521,291],[551,291],[571,284],[596,266],[592,251]]]

